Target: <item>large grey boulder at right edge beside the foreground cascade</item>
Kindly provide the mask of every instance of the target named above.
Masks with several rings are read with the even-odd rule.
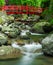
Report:
[[[53,34],[42,40],[42,49],[45,55],[53,56]]]

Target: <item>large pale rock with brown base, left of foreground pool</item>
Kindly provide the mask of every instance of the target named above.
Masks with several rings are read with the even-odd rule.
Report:
[[[17,48],[11,46],[1,46],[0,47],[0,59],[12,59],[19,58],[21,56],[21,51]]]

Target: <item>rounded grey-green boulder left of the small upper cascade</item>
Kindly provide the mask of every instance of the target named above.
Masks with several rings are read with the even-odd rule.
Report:
[[[3,27],[2,32],[7,34],[9,37],[15,38],[20,34],[20,30],[17,28]]]

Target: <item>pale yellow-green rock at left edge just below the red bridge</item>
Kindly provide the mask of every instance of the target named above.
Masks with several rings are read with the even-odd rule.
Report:
[[[5,11],[0,11],[0,24],[9,23],[10,20],[14,20],[12,15],[7,15]]]

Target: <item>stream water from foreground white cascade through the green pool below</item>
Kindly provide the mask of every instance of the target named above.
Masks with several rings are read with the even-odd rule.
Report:
[[[25,35],[25,33],[21,35]],[[0,65],[53,65],[53,58],[44,56],[42,45],[39,43],[32,42],[20,46],[14,42],[12,47],[19,48],[22,51],[22,57],[19,59],[0,60]]]

